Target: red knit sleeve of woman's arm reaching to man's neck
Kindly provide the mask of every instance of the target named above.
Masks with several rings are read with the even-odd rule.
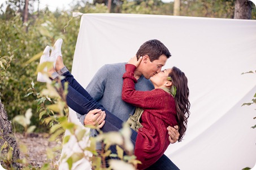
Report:
[[[122,99],[129,104],[143,109],[160,109],[160,103],[164,102],[164,93],[160,89],[152,91],[136,91],[134,70],[136,66],[131,64],[125,65],[126,72],[123,74]]]

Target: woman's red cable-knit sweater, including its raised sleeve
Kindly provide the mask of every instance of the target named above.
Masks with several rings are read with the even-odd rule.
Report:
[[[140,120],[143,127],[138,129],[134,154],[142,162],[138,169],[145,169],[157,162],[170,144],[166,128],[177,125],[176,106],[173,97],[160,88],[136,91],[136,66],[127,64],[125,69],[122,99],[144,109]]]

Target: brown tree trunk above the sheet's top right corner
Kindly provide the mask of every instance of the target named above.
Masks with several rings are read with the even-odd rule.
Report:
[[[234,19],[251,19],[251,9],[253,2],[249,0],[236,0]]]

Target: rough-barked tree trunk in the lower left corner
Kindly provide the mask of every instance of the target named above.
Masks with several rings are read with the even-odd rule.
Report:
[[[14,134],[12,133],[11,122],[8,120],[5,108],[0,99],[0,147],[2,147],[7,142],[6,147],[3,147],[1,151],[0,162],[3,168],[10,169],[20,169],[19,163],[16,160],[19,159],[20,151]],[[7,160],[7,153],[12,147],[12,159]],[[2,148],[1,148],[2,149]]]

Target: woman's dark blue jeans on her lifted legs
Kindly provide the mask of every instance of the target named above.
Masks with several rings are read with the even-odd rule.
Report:
[[[106,112],[105,124],[101,128],[103,132],[110,131],[119,131],[122,129],[123,121],[116,117],[114,114],[107,111],[103,108],[102,105],[99,105],[97,101],[95,101],[92,96],[76,81],[70,71],[66,71],[63,73],[64,79],[62,80],[62,84],[68,82],[68,94],[67,94],[67,105],[76,111],[79,114],[87,114],[90,110],[93,109],[102,109]],[[135,146],[135,141],[137,138],[137,132],[132,130],[131,141]]]

